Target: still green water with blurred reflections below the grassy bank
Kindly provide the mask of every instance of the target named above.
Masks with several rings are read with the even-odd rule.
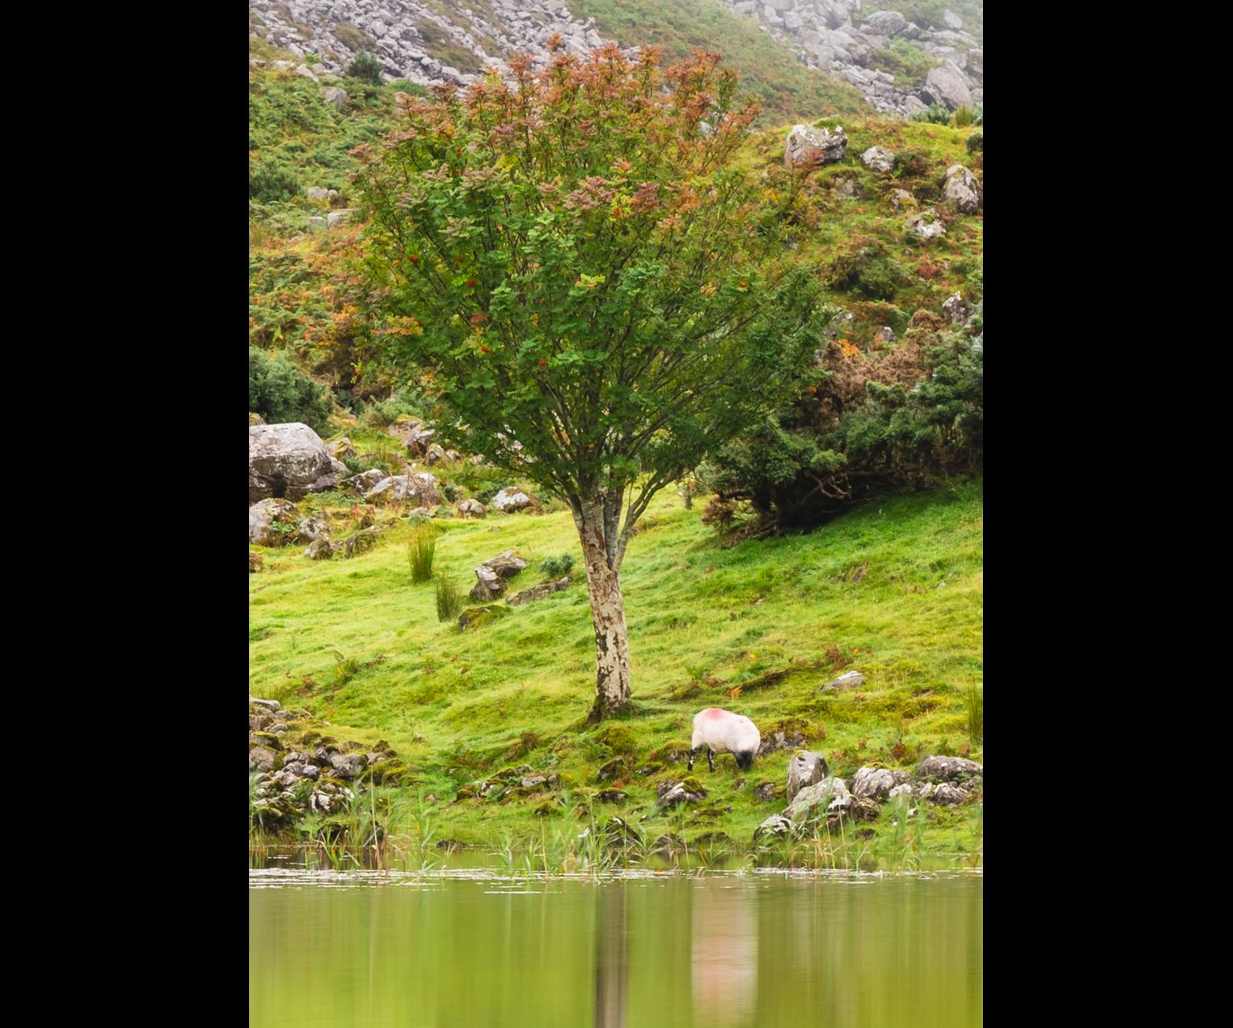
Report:
[[[983,876],[249,871],[249,1024],[979,1026]]]

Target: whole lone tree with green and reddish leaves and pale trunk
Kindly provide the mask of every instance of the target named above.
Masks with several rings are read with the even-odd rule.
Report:
[[[430,369],[454,419],[439,434],[572,510],[602,720],[630,699],[634,525],[776,408],[819,345],[816,287],[779,239],[790,180],[734,166],[756,108],[718,54],[509,68],[465,95],[402,96],[404,127],[354,152],[366,269],[387,359]]]

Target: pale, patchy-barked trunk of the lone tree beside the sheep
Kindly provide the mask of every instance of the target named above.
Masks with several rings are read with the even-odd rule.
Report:
[[[615,524],[604,513],[604,505],[594,503],[573,515],[587,567],[591,622],[596,627],[596,704],[587,717],[593,725],[629,705],[625,602],[620,594],[616,541],[609,539]]]

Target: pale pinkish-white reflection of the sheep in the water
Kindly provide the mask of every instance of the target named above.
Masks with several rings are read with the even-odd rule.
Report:
[[[753,1021],[758,921],[752,889],[704,879],[693,894],[695,1024],[737,1028]]]

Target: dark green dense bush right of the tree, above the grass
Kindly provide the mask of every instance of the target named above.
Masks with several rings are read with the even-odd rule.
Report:
[[[944,332],[914,318],[894,349],[831,344],[801,398],[725,446],[703,468],[718,498],[704,518],[724,529],[736,503],[751,535],[809,528],[873,492],[912,489],[984,465],[984,328]]]

